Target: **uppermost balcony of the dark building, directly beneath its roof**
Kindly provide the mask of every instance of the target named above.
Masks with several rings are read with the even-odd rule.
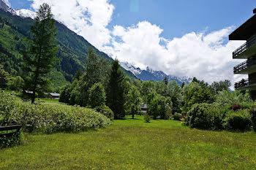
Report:
[[[236,51],[233,52],[233,58],[249,58],[256,54],[256,36],[238,47]]]

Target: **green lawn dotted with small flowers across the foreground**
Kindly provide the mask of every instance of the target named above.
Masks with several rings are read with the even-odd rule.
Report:
[[[78,134],[23,134],[0,169],[256,169],[256,134],[200,131],[174,120],[114,120]]]

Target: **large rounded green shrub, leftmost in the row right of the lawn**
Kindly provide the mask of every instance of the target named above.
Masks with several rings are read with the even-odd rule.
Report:
[[[187,114],[187,125],[206,130],[222,129],[222,114],[211,104],[194,104]]]

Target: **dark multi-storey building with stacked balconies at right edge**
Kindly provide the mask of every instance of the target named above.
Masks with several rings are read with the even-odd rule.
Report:
[[[248,74],[248,79],[235,83],[236,90],[249,90],[253,100],[256,99],[256,9],[254,15],[230,34],[230,40],[246,40],[244,45],[233,52],[233,59],[246,59],[234,67],[234,74]]]

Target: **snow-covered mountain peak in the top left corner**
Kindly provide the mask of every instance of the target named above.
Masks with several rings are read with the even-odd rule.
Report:
[[[12,15],[18,15],[22,18],[34,19],[37,16],[36,12],[33,12],[29,9],[12,9],[2,0],[0,0],[0,9],[4,9],[4,11],[10,12]]]

